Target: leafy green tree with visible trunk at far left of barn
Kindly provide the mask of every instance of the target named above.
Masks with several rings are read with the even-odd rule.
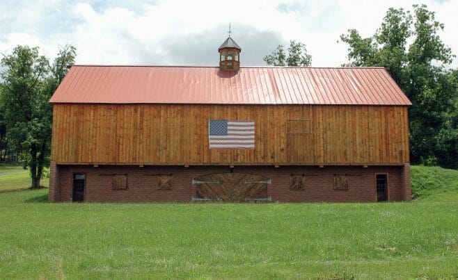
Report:
[[[40,102],[44,94],[41,81],[47,76],[49,63],[38,54],[38,47],[17,46],[2,58],[1,65],[6,68],[1,76],[8,138],[16,149],[29,151],[26,165],[30,167],[31,188],[38,188],[47,151],[45,139],[51,132],[49,124],[42,122],[45,104]]]

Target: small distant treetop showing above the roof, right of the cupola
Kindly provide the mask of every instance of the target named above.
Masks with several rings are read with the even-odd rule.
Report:
[[[312,56],[307,54],[306,45],[294,40],[290,41],[290,47],[287,49],[288,56],[285,55],[283,45],[279,44],[275,51],[262,58],[267,65],[275,66],[310,66]]]

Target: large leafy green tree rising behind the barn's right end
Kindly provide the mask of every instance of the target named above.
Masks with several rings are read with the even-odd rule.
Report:
[[[444,67],[454,56],[438,35],[443,28],[427,6],[414,5],[413,14],[390,8],[371,38],[361,38],[351,29],[340,39],[349,45],[347,65],[386,67],[411,99],[411,161],[457,167],[450,115],[458,79]]]

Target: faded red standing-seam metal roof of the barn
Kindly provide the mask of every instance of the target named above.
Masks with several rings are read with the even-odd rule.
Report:
[[[75,65],[51,102],[411,105],[383,67]]]

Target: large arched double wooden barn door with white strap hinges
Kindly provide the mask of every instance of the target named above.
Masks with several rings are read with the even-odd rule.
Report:
[[[268,201],[267,185],[270,183],[271,180],[258,174],[207,174],[193,180],[197,186],[194,200]]]

